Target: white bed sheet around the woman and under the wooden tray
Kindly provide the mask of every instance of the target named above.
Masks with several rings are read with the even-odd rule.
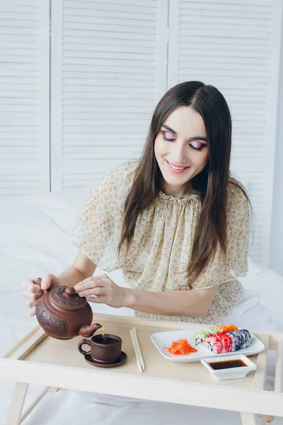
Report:
[[[0,353],[8,351],[37,324],[28,316],[28,307],[21,295],[21,282],[45,273],[59,274],[76,256],[76,246],[69,241],[69,232],[81,208],[84,193],[5,198],[0,209]],[[260,291],[260,302],[272,311],[276,322],[283,322],[283,278],[249,260],[250,271],[239,278],[246,289]],[[96,273],[101,269],[97,268]],[[108,273],[118,285],[127,286],[120,270]],[[94,307],[93,307],[94,306]],[[97,312],[134,315],[127,308],[114,309],[92,305]],[[0,381],[0,424],[5,424],[14,382]],[[42,390],[30,385],[25,407]],[[134,420],[133,420],[134,418]],[[178,404],[132,402],[125,397],[94,395],[70,390],[47,394],[24,424],[175,424],[184,420],[190,424],[241,424],[240,415],[216,409],[201,409]],[[274,424],[283,424],[276,418]]]

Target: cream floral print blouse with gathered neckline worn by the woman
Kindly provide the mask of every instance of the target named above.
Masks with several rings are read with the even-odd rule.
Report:
[[[103,271],[122,268],[125,281],[132,288],[155,292],[190,290],[184,276],[201,208],[197,194],[178,198],[159,192],[155,202],[137,217],[127,258],[124,242],[118,259],[125,200],[139,161],[130,159],[100,179],[86,197],[70,239]],[[245,190],[239,181],[237,183]],[[229,183],[228,193],[226,263],[219,261],[220,252],[216,251],[214,259],[210,259],[192,283],[196,289],[221,283],[209,311],[202,317],[135,311],[137,317],[214,324],[224,319],[241,300],[243,286],[236,277],[246,276],[248,271],[250,212],[248,200],[239,188]]]

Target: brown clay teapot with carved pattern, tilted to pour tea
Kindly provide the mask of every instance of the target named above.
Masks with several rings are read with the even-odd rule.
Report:
[[[41,278],[35,283],[40,285]],[[35,307],[37,321],[46,334],[57,339],[71,339],[74,336],[92,336],[101,328],[99,323],[91,324],[93,311],[86,301],[70,286],[47,289]]]

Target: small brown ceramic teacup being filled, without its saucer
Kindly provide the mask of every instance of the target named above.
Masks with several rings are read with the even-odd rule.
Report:
[[[103,341],[102,334],[94,335],[91,339],[82,339],[79,342],[79,352],[86,356],[89,354],[91,360],[96,363],[114,363],[121,356],[122,339],[120,336],[105,334],[106,342]],[[81,346],[88,344],[90,351],[84,351]]]

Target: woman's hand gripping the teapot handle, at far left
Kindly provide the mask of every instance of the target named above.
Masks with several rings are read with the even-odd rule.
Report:
[[[27,300],[27,305],[30,307],[30,316],[35,315],[35,306],[40,297],[46,293],[46,290],[50,287],[59,286],[59,279],[51,273],[48,273],[42,278],[41,284],[35,283],[36,279],[26,279],[22,283],[23,297]]]

